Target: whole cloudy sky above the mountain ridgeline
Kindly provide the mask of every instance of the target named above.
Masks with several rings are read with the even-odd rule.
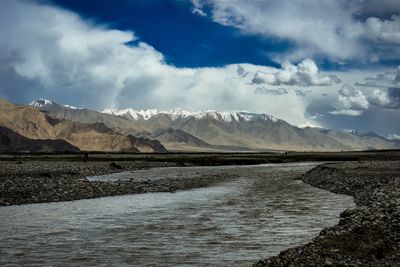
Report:
[[[400,135],[398,0],[1,0],[0,97]]]

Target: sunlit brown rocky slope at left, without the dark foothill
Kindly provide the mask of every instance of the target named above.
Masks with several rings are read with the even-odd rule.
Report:
[[[0,100],[0,126],[29,139],[62,139],[82,151],[166,151],[158,141],[126,136],[101,122],[71,121],[33,106],[13,105],[5,100]]]

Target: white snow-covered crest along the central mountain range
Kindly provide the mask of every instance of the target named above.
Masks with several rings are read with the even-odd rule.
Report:
[[[140,120],[140,119],[149,120],[158,115],[166,115],[173,121],[176,121],[178,119],[188,119],[188,118],[194,118],[197,120],[211,118],[214,120],[221,120],[225,122],[239,122],[241,120],[243,121],[261,120],[266,122],[278,121],[278,119],[274,118],[273,116],[263,113],[252,113],[248,111],[218,112],[215,110],[208,110],[208,111],[189,112],[182,110],[180,108],[171,109],[169,111],[158,111],[157,109],[135,110],[131,108],[127,109],[106,108],[102,111],[102,113],[116,115],[116,116],[123,116],[133,120]]]

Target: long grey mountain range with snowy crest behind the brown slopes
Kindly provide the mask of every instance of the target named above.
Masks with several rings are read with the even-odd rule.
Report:
[[[96,112],[46,100],[31,103],[57,117],[101,122],[122,133],[160,140],[173,150],[340,151],[400,148],[398,142],[371,134],[299,128],[266,114],[105,109]],[[223,149],[222,149],[223,148]]]

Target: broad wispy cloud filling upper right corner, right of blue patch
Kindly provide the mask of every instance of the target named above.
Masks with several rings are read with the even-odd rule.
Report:
[[[201,3],[210,6],[211,17],[217,23],[294,43],[293,51],[285,54],[284,59],[327,56],[337,61],[374,61],[400,58],[399,53],[393,53],[399,52],[398,47],[387,46],[400,41],[400,5],[396,0],[207,0]]]

